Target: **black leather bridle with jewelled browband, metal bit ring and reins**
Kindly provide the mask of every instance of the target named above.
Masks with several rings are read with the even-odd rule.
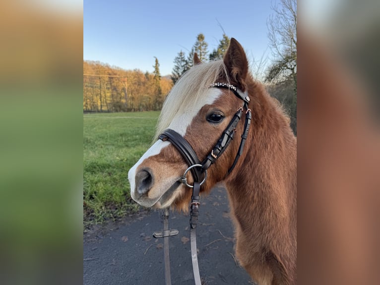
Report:
[[[235,168],[236,163],[239,160],[239,157],[243,153],[244,145],[248,138],[248,132],[250,130],[251,125],[251,109],[248,108],[248,104],[250,102],[250,97],[248,96],[248,92],[243,92],[241,89],[237,88],[234,85],[229,83],[215,82],[212,83],[210,88],[225,88],[231,90],[239,99],[243,101],[243,106],[240,107],[235,113],[234,117],[230,121],[228,127],[224,130],[218,142],[214,145],[211,152],[200,162],[198,156],[196,155],[194,149],[191,147],[190,143],[188,143],[184,137],[178,134],[176,131],[171,129],[166,129],[159,137],[159,140],[163,142],[169,141],[172,143],[178,150],[178,152],[185,159],[186,163],[189,165],[188,169],[186,169],[184,175],[179,180],[179,182],[185,184],[187,187],[192,188],[192,196],[191,196],[191,206],[190,206],[190,246],[191,246],[191,261],[192,261],[192,271],[194,275],[195,285],[201,285],[200,274],[198,268],[198,258],[196,253],[196,225],[198,223],[198,215],[199,215],[199,192],[200,186],[207,179],[207,169],[215,163],[215,161],[222,155],[222,153],[226,150],[228,145],[234,139],[234,135],[236,133],[236,127],[242,117],[244,110],[246,110],[246,121],[244,125],[244,131],[241,136],[240,146],[238,152],[235,156],[235,160],[231,167],[228,169],[228,174]],[[186,175],[191,171],[193,177],[193,185],[189,185]],[[169,219],[169,211],[165,209],[165,214],[163,214],[164,219],[164,230],[156,231],[153,233],[153,236],[156,238],[163,237],[164,238],[164,257],[165,257],[165,281],[166,285],[171,285],[171,277],[170,277],[170,262],[169,262],[169,236],[178,234],[178,230],[169,230],[168,229],[168,219]]]

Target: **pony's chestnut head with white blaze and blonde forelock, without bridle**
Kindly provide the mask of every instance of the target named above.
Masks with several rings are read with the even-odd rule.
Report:
[[[156,128],[156,139],[165,129],[174,130],[190,144],[202,161],[244,103],[230,88],[210,86],[215,82],[225,83],[245,92],[247,77],[247,57],[234,38],[223,60],[201,63],[195,54],[194,66],[177,81],[164,102]],[[237,132],[237,138],[240,138],[243,127],[243,123],[236,126],[234,132]],[[226,177],[229,167],[234,163],[239,143],[239,140],[232,140],[208,169],[208,178],[201,192],[209,191]],[[172,143],[156,141],[129,170],[132,199],[144,207],[174,206],[186,211],[191,191],[180,179],[188,167]],[[193,182],[190,172],[187,181],[189,184]]]

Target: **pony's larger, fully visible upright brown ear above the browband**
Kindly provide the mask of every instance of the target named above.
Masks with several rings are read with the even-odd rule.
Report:
[[[248,61],[243,47],[234,38],[230,40],[230,46],[224,56],[224,64],[229,73],[228,75],[238,83],[239,87],[244,91],[246,89]]]

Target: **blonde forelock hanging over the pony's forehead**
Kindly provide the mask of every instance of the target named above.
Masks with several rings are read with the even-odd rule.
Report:
[[[223,76],[229,82],[223,60],[194,65],[190,70],[186,71],[165,99],[156,126],[154,141],[169,127],[177,114],[193,110],[195,102],[206,96],[210,84],[217,81],[220,76]]]

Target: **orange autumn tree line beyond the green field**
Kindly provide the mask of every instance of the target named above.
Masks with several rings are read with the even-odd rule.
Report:
[[[83,61],[83,111],[161,110],[173,83],[170,78],[161,77],[157,58],[153,68],[153,73],[144,73]]]

